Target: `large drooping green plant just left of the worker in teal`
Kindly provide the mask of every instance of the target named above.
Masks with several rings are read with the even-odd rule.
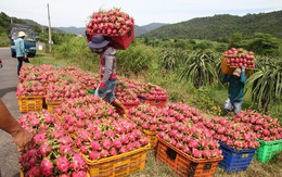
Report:
[[[180,78],[191,80],[195,88],[218,80],[216,72],[216,55],[210,51],[194,51],[183,64]]]

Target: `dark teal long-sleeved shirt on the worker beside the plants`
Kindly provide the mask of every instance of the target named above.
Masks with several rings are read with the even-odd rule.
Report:
[[[241,73],[240,78],[233,75],[223,75],[222,83],[229,83],[228,98],[231,102],[241,102],[243,100],[244,86],[246,83],[244,72]]]

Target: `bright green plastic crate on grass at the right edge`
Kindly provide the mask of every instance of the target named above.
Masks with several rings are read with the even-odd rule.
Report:
[[[260,162],[267,163],[274,157],[277,153],[282,151],[282,139],[274,141],[258,141],[260,146],[257,150],[256,157]]]

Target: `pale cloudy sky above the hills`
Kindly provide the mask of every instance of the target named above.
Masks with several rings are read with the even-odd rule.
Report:
[[[1,0],[0,12],[48,26],[47,4],[52,27],[85,27],[93,12],[113,8],[120,8],[139,26],[174,24],[216,14],[243,16],[282,10],[282,0]]]

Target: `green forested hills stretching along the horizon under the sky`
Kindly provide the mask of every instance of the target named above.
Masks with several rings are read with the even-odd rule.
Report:
[[[0,34],[8,34],[11,17],[5,13],[0,13]],[[13,23],[31,25],[36,31],[48,27],[42,26],[31,20],[21,20],[13,17]],[[56,33],[70,33],[85,35],[85,27],[53,27]],[[207,17],[196,17],[190,21],[176,24],[152,23],[144,26],[134,26],[136,37],[156,38],[189,38],[227,41],[234,33],[242,33],[243,38],[252,38],[255,33],[270,34],[282,38],[282,11],[270,13],[247,14],[236,16],[230,14],[214,15]]]

